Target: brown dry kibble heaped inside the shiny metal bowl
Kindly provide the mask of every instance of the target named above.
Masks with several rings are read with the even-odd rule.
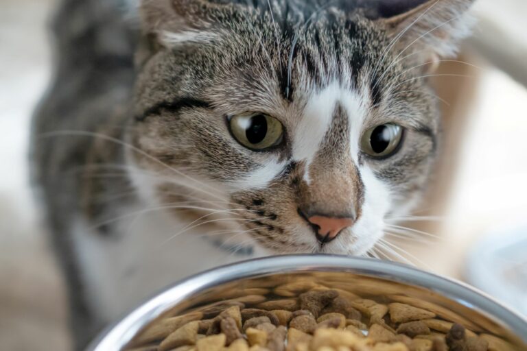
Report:
[[[471,329],[469,321],[464,326],[455,318],[439,316],[433,308],[410,303],[383,303],[309,282],[246,292],[248,295],[162,319],[144,330],[127,350],[514,350],[476,326]]]

